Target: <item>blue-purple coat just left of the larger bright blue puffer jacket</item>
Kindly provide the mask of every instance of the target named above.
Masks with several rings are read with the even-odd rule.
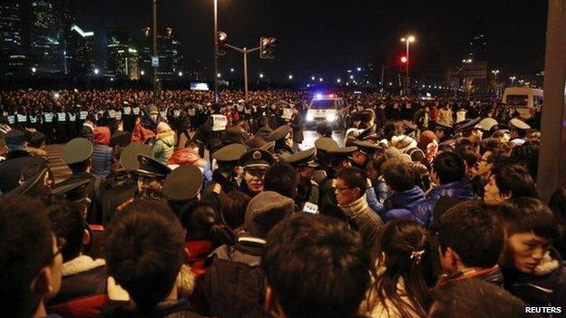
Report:
[[[385,222],[410,219],[423,224],[413,215],[413,208],[424,201],[424,191],[415,186],[410,190],[395,192],[385,202],[385,211],[381,217]]]

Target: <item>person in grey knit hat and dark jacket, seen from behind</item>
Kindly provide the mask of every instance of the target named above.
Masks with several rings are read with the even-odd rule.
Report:
[[[223,245],[207,260],[204,290],[215,317],[268,317],[264,306],[266,280],[260,268],[269,231],[291,215],[295,202],[265,191],[249,201],[243,231],[233,246]],[[239,273],[234,279],[229,273]],[[236,300],[236,302],[234,302]]]

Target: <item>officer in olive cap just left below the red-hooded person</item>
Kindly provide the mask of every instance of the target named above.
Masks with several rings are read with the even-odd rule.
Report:
[[[87,223],[100,224],[102,221],[102,209],[100,207],[100,198],[96,198],[100,188],[100,179],[95,178],[91,174],[93,154],[93,143],[84,138],[75,138],[67,142],[63,147],[61,158],[63,162],[69,166],[73,172],[71,177],[55,185],[55,188],[67,187],[80,180],[88,180],[86,187],[86,197],[90,201],[87,205],[86,221]]]

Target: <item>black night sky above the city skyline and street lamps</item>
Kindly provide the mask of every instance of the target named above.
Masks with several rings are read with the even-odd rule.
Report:
[[[160,32],[166,26],[183,44],[186,55],[211,65],[212,0],[158,0]],[[395,63],[404,50],[399,39],[415,34],[415,72],[454,65],[466,53],[474,21],[482,21],[488,41],[490,69],[503,76],[540,72],[544,65],[548,2],[543,0],[476,1],[360,1],[360,0],[220,0],[220,30],[229,43],[256,46],[259,36],[278,38],[277,59],[249,58],[250,79],[264,72],[274,80],[292,73],[335,78],[363,63]],[[139,33],[151,24],[151,0],[73,0],[77,24],[93,30],[99,56],[105,28],[129,26]],[[103,53],[103,51],[102,51]],[[241,70],[241,55],[229,51],[220,59],[220,72]]]

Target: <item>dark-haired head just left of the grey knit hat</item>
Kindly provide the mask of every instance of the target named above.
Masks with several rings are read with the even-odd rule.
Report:
[[[221,226],[216,208],[205,201],[191,202],[181,211],[181,224],[187,231],[186,241],[207,240],[214,246],[234,243],[234,235],[227,226]]]

